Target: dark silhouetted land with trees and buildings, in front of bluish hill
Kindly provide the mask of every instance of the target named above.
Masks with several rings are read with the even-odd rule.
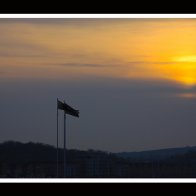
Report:
[[[63,150],[60,149],[60,174]],[[41,143],[4,142],[0,144],[1,178],[56,177],[56,149]],[[63,176],[60,176],[63,177]],[[88,150],[67,150],[69,178],[195,178],[196,152],[162,161],[131,162],[115,154]]]

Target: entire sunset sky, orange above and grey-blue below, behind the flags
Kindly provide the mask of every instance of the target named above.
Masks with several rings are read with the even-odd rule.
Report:
[[[81,113],[68,148],[196,145],[195,32],[196,19],[0,19],[0,141],[55,145],[59,97]]]

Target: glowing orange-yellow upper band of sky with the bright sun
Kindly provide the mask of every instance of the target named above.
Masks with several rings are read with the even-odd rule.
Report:
[[[0,31],[0,69],[10,77],[196,85],[196,19],[0,20]]]

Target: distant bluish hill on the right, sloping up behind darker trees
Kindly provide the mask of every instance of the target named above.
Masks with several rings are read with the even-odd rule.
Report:
[[[118,157],[128,159],[134,162],[149,162],[165,160],[173,156],[183,155],[192,151],[196,151],[196,146],[187,146],[179,148],[167,148],[159,150],[149,150],[141,152],[121,152],[116,153]]]

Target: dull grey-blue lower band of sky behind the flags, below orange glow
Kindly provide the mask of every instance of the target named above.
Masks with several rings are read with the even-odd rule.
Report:
[[[56,98],[80,109],[68,117],[68,146],[132,151],[195,145],[196,100],[181,89],[152,83],[99,78],[84,82],[0,85],[1,141],[55,145]],[[61,113],[61,130],[63,130]],[[61,139],[62,140],[62,139]]]

